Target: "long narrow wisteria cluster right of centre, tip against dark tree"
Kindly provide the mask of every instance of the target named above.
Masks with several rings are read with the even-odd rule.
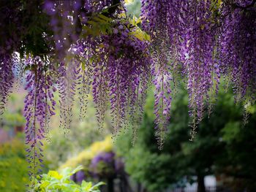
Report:
[[[171,106],[171,83],[173,82],[172,69],[176,67],[173,61],[170,61],[170,53],[175,52],[175,46],[171,47],[173,28],[168,28],[167,23],[175,22],[173,20],[174,12],[172,1],[142,1],[142,16],[144,18],[143,29],[151,34],[151,74],[153,83],[156,87],[154,97],[154,114],[156,115],[156,137],[159,148],[162,148],[167,123],[170,120]],[[171,11],[172,10],[172,11]],[[173,23],[172,23],[173,24]],[[170,24],[169,26],[172,26]],[[174,54],[173,54],[174,55]]]

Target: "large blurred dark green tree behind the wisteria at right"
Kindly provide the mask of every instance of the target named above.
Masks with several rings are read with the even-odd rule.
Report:
[[[173,120],[170,121],[162,151],[157,150],[154,139],[152,99],[147,101],[147,113],[140,126],[135,147],[130,145],[132,134],[117,139],[118,154],[124,156],[125,169],[131,177],[142,183],[148,191],[162,191],[184,182],[200,183],[200,177],[208,174],[224,174],[233,180],[225,187],[231,191],[255,188],[255,113],[243,126],[241,105],[235,104],[231,93],[219,93],[210,118],[204,118],[193,142],[189,142],[187,123],[188,99],[180,91],[173,101]],[[124,150],[126,149],[126,150]],[[157,174],[156,174],[157,173]],[[241,183],[240,186],[236,183]]]

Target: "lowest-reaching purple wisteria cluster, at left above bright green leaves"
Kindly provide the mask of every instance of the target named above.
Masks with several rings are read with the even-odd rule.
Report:
[[[53,92],[56,91],[50,62],[42,61],[39,56],[26,60],[26,91],[24,116],[26,118],[26,144],[28,148],[29,176],[35,178],[41,172],[42,139],[48,135],[49,120],[55,115],[56,101]],[[34,185],[33,181],[31,183]]]

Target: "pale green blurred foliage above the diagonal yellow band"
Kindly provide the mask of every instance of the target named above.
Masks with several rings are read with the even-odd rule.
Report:
[[[68,158],[78,155],[85,147],[89,147],[94,141],[102,140],[110,134],[110,126],[104,125],[104,130],[99,131],[97,128],[97,118],[94,116],[95,109],[92,97],[89,96],[87,104],[86,117],[80,120],[79,102],[74,103],[74,115],[72,118],[72,131],[69,137],[61,132],[59,128],[59,115],[56,115],[50,126],[50,142],[44,145],[45,160],[48,161],[50,169],[58,169]],[[59,107],[56,107],[56,114],[59,114]],[[60,136],[61,135],[61,136]]]

